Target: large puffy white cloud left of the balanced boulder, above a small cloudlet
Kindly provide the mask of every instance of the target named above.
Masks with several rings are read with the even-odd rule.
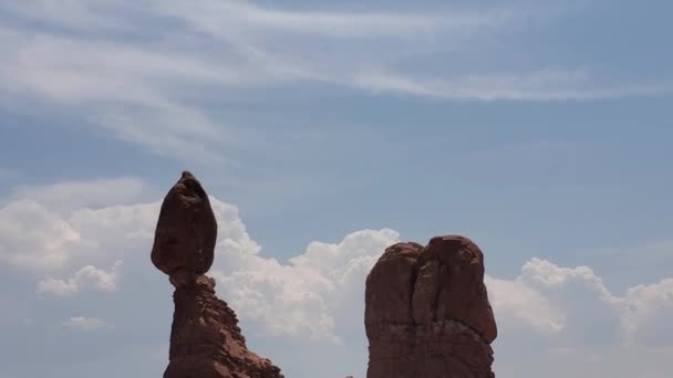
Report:
[[[99,185],[75,187],[77,192],[101,189]],[[52,203],[58,196],[35,191],[45,195],[44,203],[20,199],[0,208],[0,261],[22,271],[63,274],[83,265],[100,266],[99,262],[112,265],[123,259],[111,261],[111,251],[123,255],[154,233],[159,202],[63,212],[69,209],[64,202]]]

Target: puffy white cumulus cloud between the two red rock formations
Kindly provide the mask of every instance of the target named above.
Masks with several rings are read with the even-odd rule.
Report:
[[[234,307],[267,333],[340,343],[338,322],[358,307],[359,283],[396,241],[392,230],[358,231],[339,243],[313,242],[288,264],[222,245],[213,274]]]

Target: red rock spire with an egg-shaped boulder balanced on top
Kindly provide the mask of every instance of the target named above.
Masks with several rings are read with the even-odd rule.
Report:
[[[168,191],[159,213],[152,262],[175,286],[169,364],[164,378],[282,378],[246,346],[238,318],[215,295],[217,221],[208,196],[188,171]]]

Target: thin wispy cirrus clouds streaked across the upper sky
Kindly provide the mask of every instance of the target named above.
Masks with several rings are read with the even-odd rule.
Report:
[[[485,51],[561,13],[548,2],[406,9],[245,0],[6,2],[0,95],[66,108],[77,123],[157,155],[231,162],[222,151],[245,148],[249,125],[229,123],[222,111],[230,105],[213,98],[241,90],[263,97],[269,87],[320,83],[319,91],[525,102],[667,92],[665,84],[611,82],[582,66],[503,72],[497,59],[478,71],[448,65],[424,73],[436,62],[423,56],[451,61],[448,52]]]

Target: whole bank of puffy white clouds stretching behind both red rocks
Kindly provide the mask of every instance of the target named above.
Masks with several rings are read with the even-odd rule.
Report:
[[[50,188],[43,190],[58,193],[62,186]],[[35,192],[52,198],[43,190]],[[302,361],[281,357],[280,345],[286,343],[308,355],[320,356],[321,348],[325,353],[355,348],[366,358],[364,280],[384,248],[401,240],[400,233],[355,231],[338,242],[311,242],[294,258],[278,261],[249,235],[235,206],[217,198],[211,203],[219,234],[210,274],[217,280],[218,295],[244,319],[247,336],[282,340],[279,347],[269,342],[265,351],[290,370]],[[63,213],[38,199],[10,201],[0,209],[0,259],[33,277],[37,297],[69,297],[76,303],[90,293],[123,300],[142,291],[118,290],[125,285],[124,270],[161,275],[147,258],[158,209],[159,202],[152,202]],[[488,251],[486,263],[488,266]],[[496,368],[504,377],[529,376],[536,364],[540,369],[546,365],[550,377],[565,377],[572,371],[594,371],[598,366],[622,366],[627,360],[625,372],[613,377],[660,377],[651,364],[663,369],[664,351],[673,348],[667,326],[673,316],[673,279],[614,293],[588,266],[559,266],[531,258],[516,277],[487,276],[486,284],[500,328]],[[168,295],[157,295],[164,294]],[[70,328],[125,326],[118,312],[105,318],[81,313],[70,316]],[[169,317],[169,313],[162,316]],[[532,370],[517,368],[530,356],[538,361],[530,366]],[[341,358],[350,357],[344,353]],[[348,360],[343,366],[363,371],[364,366],[356,367],[360,363]],[[333,371],[343,361],[336,357]],[[303,368],[310,371],[310,367]]]

